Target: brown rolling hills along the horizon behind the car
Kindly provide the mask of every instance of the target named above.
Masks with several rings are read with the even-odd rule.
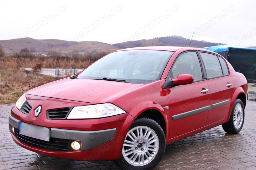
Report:
[[[23,41],[19,39],[14,40],[1,40],[0,44],[4,47],[5,53],[13,53],[13,51],[20,51],[22,48],[35,47],[36,52],[47,53],[49,49],[61,51],[63,54],[71,53],[74,50],[79,51],[79,53],[91,52],[113,52],[123,48],[130,47],[142,47],[142,46],[188,46],[190,43],[189,39],[185,39],[180,36],[171,37],[160,37],[150,40],[138,40],[131,41],[130,43],[117,43],[117,44],[107,44],[97,41],[81,41],[74,42],[70,44],[68,41],[64,40],[35,40],[33,38],[24,38]],[[222,45],[221,43],[211,43],[206,41],[192,40],[190,47],[209,47],[213,45]]]

